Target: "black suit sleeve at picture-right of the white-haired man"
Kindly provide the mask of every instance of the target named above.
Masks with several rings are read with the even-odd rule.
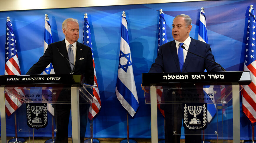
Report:
[[[87,52],[87,67],[85,70],[85,78],[86,83],[90,85],[94,85],[94,68],[93,68],[93,61],[92,61],[92,51],[91,49]]]

